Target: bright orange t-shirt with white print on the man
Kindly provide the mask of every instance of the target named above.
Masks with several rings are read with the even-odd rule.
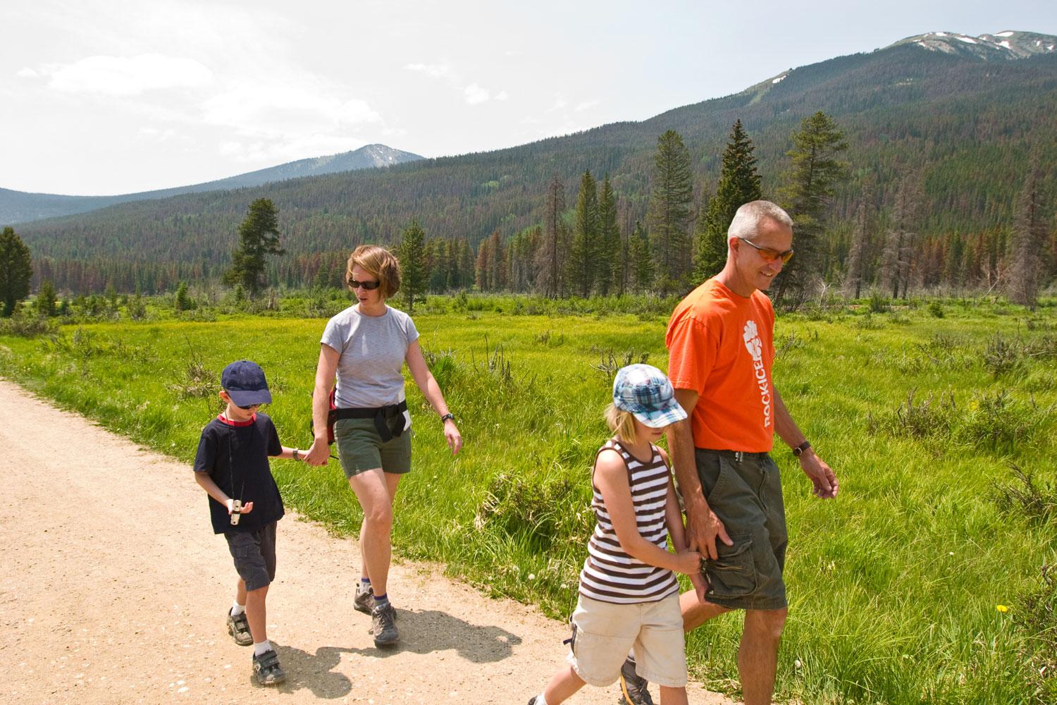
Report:
[[[668,321],[668,377],[698,392],[693,445],[771,450],[775,433],[775,310],[760,291],[739,296],[709,279],[680,301]]]

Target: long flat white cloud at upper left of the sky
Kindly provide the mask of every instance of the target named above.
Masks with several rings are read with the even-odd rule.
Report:
[[[63,93],[137,95],[152,90],[194,88],[212,80],[212,72],[194,59],[140,54],[89,56],[73,63],[50,64],[50,88]]]

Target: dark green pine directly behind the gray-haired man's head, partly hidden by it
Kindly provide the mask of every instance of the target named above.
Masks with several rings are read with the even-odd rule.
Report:
[[[716,196],[708,200],[707,208],[698,220],[698,261],[693,271],[697,281],[708,279],[723,268],[726,264],[727,228],[735,212],[743,204],[760,198],[760,174],[756,172],[753,141],[738,119],[723,150],[723,170]]]

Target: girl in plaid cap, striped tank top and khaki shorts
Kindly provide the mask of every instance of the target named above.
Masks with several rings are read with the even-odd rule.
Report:
[[[569,665],[528,705],[557,705],[586,683],[608,686],[617,679],[629,704],[652,702],[647,680],[661,686],[662,705],[686,703],[674,573],[700,579],[701,555],[686,550],[668,457],[654,445],[684,419],[661,370],[630,365],[616,373],[606,410],[615,437],[598,450],[591,474],[597,525],[580,572]],[[669,537],[676,553],[668,552]],[[636,671],[635,682],[625,678]]]

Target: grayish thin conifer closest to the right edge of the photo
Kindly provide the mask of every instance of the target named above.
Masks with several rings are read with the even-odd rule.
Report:
[[[1017,220],[1013,238],[1013,266],[1009,268],[1006,295],[1014,303],[1032,311],[1038,305],[1039,280],[1046,247],[1046,218],[1040,189],[1039,155],[1033,152],[1027,165],[1024,186],[1017,202]]]

